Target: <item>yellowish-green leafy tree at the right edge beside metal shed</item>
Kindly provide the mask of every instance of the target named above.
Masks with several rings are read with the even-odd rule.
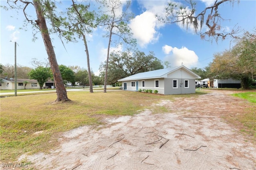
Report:
[[[256,34],[245,33],[230,50],[214,55],[210,70],[216,78],[242,81],[244,89],[256,78]]]

